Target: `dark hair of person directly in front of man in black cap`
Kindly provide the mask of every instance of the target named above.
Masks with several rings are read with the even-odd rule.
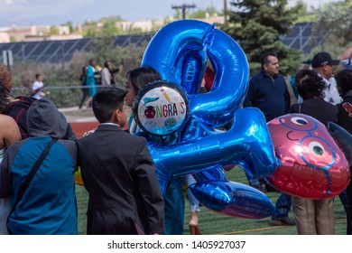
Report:
[[[295,75],[295,85],[303,100],[325,97],[327,84],[314,70],[299,70]]]

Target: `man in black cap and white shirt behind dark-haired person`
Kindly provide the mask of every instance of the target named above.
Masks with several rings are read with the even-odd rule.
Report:
[[[335,79],[332,78],[332,66],[339,64],[338,60],[332,60],[329,52],[318,52],[311,60],[311,67],[323,78],[327,84],[324,100],[336,105],[341,101]]]

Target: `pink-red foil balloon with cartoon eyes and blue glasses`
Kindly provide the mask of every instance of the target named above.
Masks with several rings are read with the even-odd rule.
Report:
[[[288,114],[268,123],[281,165],[267,181],[281,192],[326,199],[349,182],[348,162],[329,130],[313,117]]]

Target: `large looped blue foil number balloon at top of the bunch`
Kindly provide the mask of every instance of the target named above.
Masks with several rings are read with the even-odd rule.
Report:
[[[202,80],[206,55],[216,72],[213,89],[194,94]],[[183,20],[165,25],[149,43],[142,65],[158,70],[162,79],[180,84],[189,95],[190,111],[208,126],[227,124],[245,99],[249,77],[245,53],[230,36],[208,23]]]

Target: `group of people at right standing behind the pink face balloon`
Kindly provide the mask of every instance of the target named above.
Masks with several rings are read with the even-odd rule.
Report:
[[[332,60],[328,52],[315,54],[309,61],[309,66],[298,70],[294,76],[297,103],[292,104],[286,82],[279,73],[279,60],[275,53],[266,52],[261,57],[262,70],[249,82],[244,106],[259,108],[266,121],[287,113],[301,113],[318,119],[325,126],[328,126],[328,122],[337,123],[352,133],[352,117],[348,116],[345,109],[346,103],[351,102],[351,58],[351,49],[343,52],[339,60]],[[335,79],[333,68],[338,65],[342,65],[344,70],[337,70]],[[254,186],[259,187],[259,183]],[[350,188],[349,184],[347,190],[340,194],[347,213],[347,234],[351,234]],[[294,220],[289,218],[291,208]],[[281,193],[276,201],[272,223],[296,225],[298,234],[334,234],[333,199],[311,200]]]

